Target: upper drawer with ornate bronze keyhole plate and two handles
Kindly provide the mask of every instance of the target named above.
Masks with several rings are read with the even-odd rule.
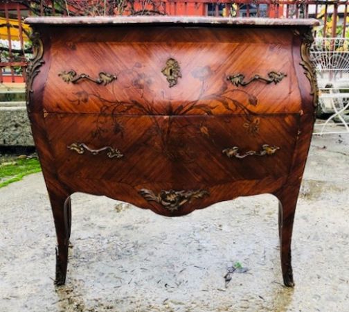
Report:
[[[76,38],[68,32],[64,41],[52,42],[46,111],[197,115],[301,110],[291,31],[154,31],[118,28],[106,38],[93,28],[94,34]]]

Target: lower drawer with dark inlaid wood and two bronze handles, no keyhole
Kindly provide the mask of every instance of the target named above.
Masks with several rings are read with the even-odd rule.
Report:
[[[45,121],[60,177],[210,187],[285,177],[298,118],[49,113]]]

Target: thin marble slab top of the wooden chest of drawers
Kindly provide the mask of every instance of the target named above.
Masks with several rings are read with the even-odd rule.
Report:
[[[222,24],[256,26],[318,26],[316,19],[269,19],[262,17],[188,17],[188,16],[140,16],[140,17],[28,17],[26,24],[100,25],[100,24]]]

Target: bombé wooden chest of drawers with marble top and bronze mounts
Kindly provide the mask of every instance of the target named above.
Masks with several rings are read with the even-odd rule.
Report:
[[[310,19],[28,18],[27,107],[64,284],[72,193],[181,216],[280,201],[283,279],[314,122]],[[232,208],[233,209],[233,208]]]

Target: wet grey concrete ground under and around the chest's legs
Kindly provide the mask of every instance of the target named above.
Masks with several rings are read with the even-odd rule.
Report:
[[[278,202],[222,202],[181,218],[72,196],[66,286],[42,175],[0,189],[0,311],[349,311],[349,135],[314,137],[285,288]],[[229,267],[240,263],[247,272]],[[244,270],[242,270],[244,271]]]

